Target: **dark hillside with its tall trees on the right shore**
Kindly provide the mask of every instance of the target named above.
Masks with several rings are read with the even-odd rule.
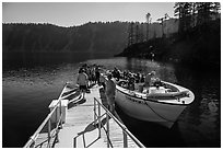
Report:
[[[117,56],[171,60],[198,67],[221,66],[221,13],[219,2],[176,2],[178,32],[162,37],[134,41]],[[162,18],[162,21],[166,16]],[[132,36],[136,37],[136,36]],[[129,39],[132,39],[129,38]],[[133,38],[136,39],[136,38]]]

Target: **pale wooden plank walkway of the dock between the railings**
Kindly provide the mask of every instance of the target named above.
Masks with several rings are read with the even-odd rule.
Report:
[[[101,86],[93,86],[91,93],[85,94],[85,100],[69,104],[66,115],[66,123],[60,129],[56,148],[107,148],[107,136],[104,129],[98,138],[98,128],[94,126],[94,97],[106,105],[106,101],[99,92]],[[102,108],[102,114],[105,111]],[[102,125],[106,128],[106,116],[102,117]],[[75,142],[74,142],[75,139]],[[122,129],[109,119],[109,140],[114,148],[124,148]],[[128,138],[129,148],[138,148]]]

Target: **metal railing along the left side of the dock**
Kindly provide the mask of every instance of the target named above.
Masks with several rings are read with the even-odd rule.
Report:
[[[67,83],[66,83],[67,85]],[[58,141],[58,134],[59,129],[62,127],[62,109],[61,109],[61,101],[62,101],[62,94],[66,89],[66,85],[63,86],[62,92],[60,93],[60,96],[55,105],[55,107],[50,111],[50,113],[47,115],[47,117],[44,119],[44,122],[40,124],[40,126],[37,128],[37,130],[33,134],[33,136],[30,137],[28,141],[25,143],[24,148],[42,148],[44,145],[47,148],[51,148],[55,146],[55,143]],[[59,108],[59,111],[58,111]],[[55,115],[55,116],[54,116]],[[56,123],[52,126],[51,118],[56,117]],[[47,127],[47,137],[43,139],[42,141],[38,141],[38,136],[42,134],[43,130]],[[52,127],[55,127],[52,129]]]

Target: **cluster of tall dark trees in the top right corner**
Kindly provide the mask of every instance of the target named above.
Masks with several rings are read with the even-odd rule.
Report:
[[[179,19],[178,33],[207,24],[220,14],[220,2],[176,2],[174,14]]]

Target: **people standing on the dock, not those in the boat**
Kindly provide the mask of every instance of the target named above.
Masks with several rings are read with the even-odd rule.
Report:
[[[79,70],[77,83],[79,84],[79,89],[83,94],[83,99],[85,99],[85,92],[89,90],[91,84],[102,84],[105,88],[108,108],[111,113],[114,113],[116,84],[111,80],[111,73],[107,76],[107,80],[103,80],[103,78],[104,77],[101,76],[98,66],[90,67],[87,65],[83,65]]]

